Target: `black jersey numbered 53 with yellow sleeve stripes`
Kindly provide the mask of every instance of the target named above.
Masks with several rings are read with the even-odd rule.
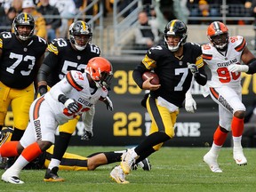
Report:
[[[84,72],[86,64],[94,57],[100,56],[100,48],[95,44],[87,44],[83,51],[76,51],[71,47],[68,39],[58,38],[48,45],[49,54],[44,64],[52,68],[47,77],[47,84],[53,86],[70,70]]]

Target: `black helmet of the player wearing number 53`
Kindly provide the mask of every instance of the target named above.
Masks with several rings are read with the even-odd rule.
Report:
[[[83,51],[86,45],[92,40],[92,28],[83,20],[77,20],[69,27],[69,39],[78,51]],[[77,43],[77,41],[80,43]]]

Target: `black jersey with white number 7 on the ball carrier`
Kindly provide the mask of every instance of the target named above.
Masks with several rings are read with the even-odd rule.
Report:
[[[175,57],[164,45],[152,47],[148,50],[141,64],[134,70],[134,72],[139,72],[141,76],[145,70],[154,69],[161,86],[158,90],[151,91],[150,95],[153,98],[161,96],[177,107],[182,107],[185,94],[192,81],[192,73],[187,63],[196,63],[197,68],[204,66],[199,44],[187,43],[183,46],[184,52],[180,58]],[[143,83],[141,77],[139,74],[137,77],[134,80],[141,86]]]

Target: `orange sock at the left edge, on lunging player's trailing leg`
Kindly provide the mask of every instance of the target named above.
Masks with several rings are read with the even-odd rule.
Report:
[[[19,156],[19,153],[17,151],[18,144],[19,141],[5,142],[0,148],[0,155],[4,157]]]

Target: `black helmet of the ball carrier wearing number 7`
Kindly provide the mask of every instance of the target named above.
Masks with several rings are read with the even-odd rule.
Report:
[[[180,36],[180,42],[176,46],[168,44],[168,36]],[[171,20],[164,28],[164,44],[171,52],[176,52],[180,45],[186,44],[188,28],[181,20]]]

